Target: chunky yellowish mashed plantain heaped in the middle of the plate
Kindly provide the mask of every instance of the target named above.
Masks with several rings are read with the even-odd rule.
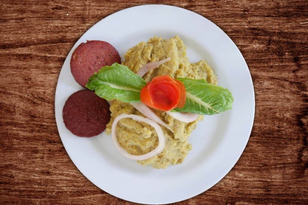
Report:
[[[136,73],[144,64],[168,57],[171,57],[169,62],[145,74],[144,80],[151,81],[155,76],[169,75],[172,78],[203,78],[209,83],[217,84],[217,78],[213,69],[204,60],[195,64],[188,61],[186,47],[178,36],[172,39],[153,37],[148,42],[141,42],[127,51],[124,55],[125,61],[122,64]],[[174,133],[161,126],[166,138],[164,151],[155,157],[137,162],[142,165],[152,165],[156,169],[182,163],[189,150],[192,149],[187,138],[193,129],[196,128],[197,122],[203,120],[203,116],[200,116],[191,123],[184,123],[174,119],[164,111],[152,110],[171,127]],[[107,133],[111,133],[111,125],[115,117],[122,113],[143,116],[129,103],[122,103],[119,100],[111,102],[110,111],[111,120],[107,124]],[[130,154],[146,154],[158,145],[157,134],[153,127],[130,118],[124,118],[119,121],[116,134],[120,145]]]

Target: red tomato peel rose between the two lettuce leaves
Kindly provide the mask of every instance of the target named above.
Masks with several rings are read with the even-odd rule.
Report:
[[[184,84],[170,76],[157,76],[141,89],[140,99],[145,105],[168,111],[182,108],[186,101]]]

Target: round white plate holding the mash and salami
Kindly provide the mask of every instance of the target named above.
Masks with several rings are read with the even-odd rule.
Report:
[[[71,54],[87,40],[111,43],[125,52],[153,36],[179,35],[190,62],[205,59],[218,84],[234,97],[233,109],[205,116],[188,138],[193,149],[182,164],[156,170],[131,161],[105,133],[76,137],[65,128],[62,109],[80,89],[70,71]],[[97,187],[136,203],[165,204],[196,196],[221,180],[235,165],[248,141],[254,118],[254,91],[247,64],[232,40],[215,24],[192,11],[166,5],[144,5],[116,12],[91,27],[74,45],[60,72],[55,117],[63,145],[77,168]]]

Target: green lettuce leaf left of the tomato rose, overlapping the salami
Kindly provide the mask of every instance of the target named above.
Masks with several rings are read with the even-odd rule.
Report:
[[[124,65],[114,63],[94,73],[86,84],[95,94],[106,100],[140,102],[140,91],[146,82]]]

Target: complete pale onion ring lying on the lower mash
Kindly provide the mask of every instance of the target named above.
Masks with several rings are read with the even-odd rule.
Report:
[[[158,146],[154,150],[152,150],[151,152],[149,152],[147,154],[143,154],[143,155],[132,155],[132,154],[127,153],[121,147],[121,145],[118,141],[118,138],[116,137],[116,125],[118,124],[119,120],[122,119],[122,118],[132,118],[133,120],[136,120],[136,121],[139,121],[139,122],[145,122],[145,123],[148,123],[149,125],[151,125],[152,127],[154,127],[154,129],[156,130],[157,136],[158,136],[158,140],[159,140]],[[132,160],[146,160],[148,158],[154,157],[164,150],[165,144],[166,144],[165,136],[164,136],[163,130],[160,128],[160,126],[156,122],[154,122],[154,121],[152,121],[148,118],[138,116],[138,115],[121,114],[121,115],[117,116],[115,118],[115,120],[113,121],[112,126],[111,126],[111,136],[112,136],[113,144],[115,145],[117,150],[121,154],[123,154],[125,157],[132,159]]]

